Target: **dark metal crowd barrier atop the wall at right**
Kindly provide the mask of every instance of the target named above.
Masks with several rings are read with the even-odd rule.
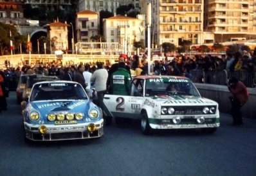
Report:
[[[248,88],[254,88],[256,85],[256,71],[248,70],[226,71],[226,70],[190,70],[192,73],[192,81],[194,83],[218,84],[226,85],[230,77],[237,77]]]

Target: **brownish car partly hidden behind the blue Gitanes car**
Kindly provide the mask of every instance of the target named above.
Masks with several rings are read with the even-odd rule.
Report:
[[[27,77],[26,85],[23,91],[22,95],[22,102],[21,102],[21,109],[24,109],[24,104],[26,103],[26,99],[28,99],[28,96],[30,95],[31,89],[33,84],[41,81],[53,81],[58,80],[59,77],[57,76],[44,76],[41,74],[32,74]]]

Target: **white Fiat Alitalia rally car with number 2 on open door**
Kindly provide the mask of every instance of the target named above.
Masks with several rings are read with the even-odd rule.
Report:
[[[129,95],[104,97],[104,104],[116,119],[141,121],[143,134],[152,129],[202,129],[215,132],[219,127],[219,105],[201,97],[187,77],[133,77]]]

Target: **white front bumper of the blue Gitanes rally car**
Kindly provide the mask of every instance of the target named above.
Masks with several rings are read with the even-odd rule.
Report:
[[[82,140],[88,138],[100,138],[104,134],[101,119],[95,122],[96,129],[93,132],[87,130],[90,123],[70,124],[70,125],[47,125],[47,124],[28,124],[24,122],[25,138],[32,141],[60,141],[60,140]],[[44,125],[47,128],[45,134],[39,132],[39,128]]]

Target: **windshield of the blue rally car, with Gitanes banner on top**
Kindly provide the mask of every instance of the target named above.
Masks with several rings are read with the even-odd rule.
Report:
[[[50,82],[33,86],[30,101],[58,99],[87,99],[87,95],[77,83]]]

